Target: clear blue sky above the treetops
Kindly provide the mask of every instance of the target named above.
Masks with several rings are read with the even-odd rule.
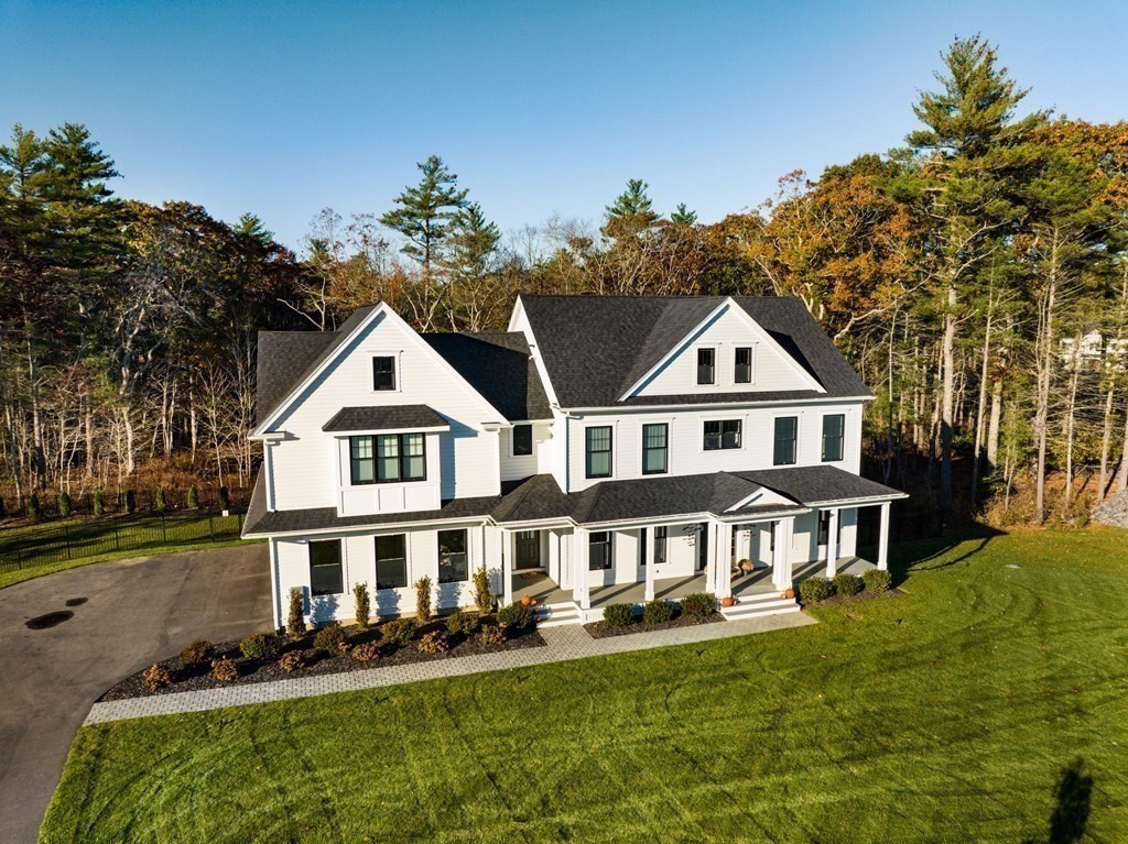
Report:
[[[596,221],[631,177],[713,221],[899,144],[957,34],[1031,107],[1128,117],[1126,28],[1122,2],[0,0],[0,123],[85,123],[118,194],[253,211],[294,247],[432,152],[503,229]]]

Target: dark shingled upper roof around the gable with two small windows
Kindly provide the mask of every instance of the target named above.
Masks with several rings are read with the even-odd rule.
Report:
[[[726,296],[539,296],[521,305],[562,407],[706,405],[870,396],[830,338],[792,296],[732,296],[826,392],[693,393],[619,398]]]

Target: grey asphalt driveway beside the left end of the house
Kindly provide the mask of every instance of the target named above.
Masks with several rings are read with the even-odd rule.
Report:
[[[262,543],[102,562],[0,589],[0,842],[35,842],[90,704],[203,637],[271,627]],[[67,607],[72,598],[86,598]],[[70,610],[44,630],[29,619]]]

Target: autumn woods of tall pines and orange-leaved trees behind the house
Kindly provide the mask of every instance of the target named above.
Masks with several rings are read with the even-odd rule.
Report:
[[[384,213],[259,220],[113,196],[81,126],[0,148],[0,471],[17,494],[170,464],[245,479],[254,337],[386,300],[503,330],[520,292],[796,295],[862,372],[865,455],[945,514],[1075,519],[1128,488],[1128,124],[1024,110],[961,38],[901,146],[703,224],[631,179],[598,223],[503,233],[442,159]]]

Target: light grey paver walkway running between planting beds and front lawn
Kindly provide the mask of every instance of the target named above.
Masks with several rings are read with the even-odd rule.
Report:
[[[714,624],[698,624],[652,633],[633,633],[592,639],[579,624],[546,628],[540,631],[546,647],[506,650],[497,654],[482,654],[473,657],[435,659],[414,665],[396,665],[388,668],[371,668],[359,672],[328,674],[319,677],[281,679],[273,683],[247,683],[238,686],[206,688],[199,692],[174,692],[149,698],[133,698],[124,701],[95,703],[86,723],[120,721],[127,718],[148,718],[180,712],[203,712],[222,707],[244,707],[249,703],[311,698],[333,692],[349,692],[359,688],[393,686],[415,683],[422,679],[455,677],[479,672],[495,672],[505,668],[522,668],[529,665],[559,663],[567,659],[623,654],[632,650],[664,648],[671,645],[689,645],[734,636],[749,636],[769,630],[816,624],[805,613],[767,615],[746,621],[725,621]]]

